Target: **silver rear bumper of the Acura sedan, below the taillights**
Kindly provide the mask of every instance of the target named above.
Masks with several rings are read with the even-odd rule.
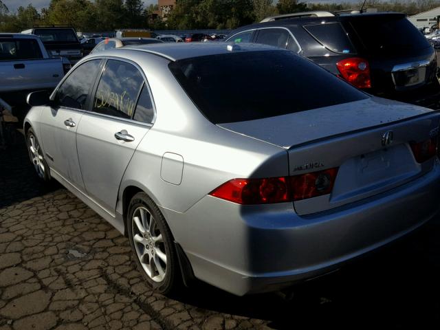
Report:
[[[209,196],[183,214],[164,213],[197,278],[236,295],[276,291],[431,219],[440,208],[438,163],[404,186],[306,217],[291,203],[243,207]]]

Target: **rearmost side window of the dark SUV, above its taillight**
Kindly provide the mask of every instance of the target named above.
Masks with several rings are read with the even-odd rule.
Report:
[[[333,52],[355,53],[354,46],[340,23],[306,25],[304,28],[311,36]]]

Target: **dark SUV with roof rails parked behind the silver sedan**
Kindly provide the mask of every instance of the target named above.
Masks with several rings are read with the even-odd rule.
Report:
[[[370,94],[440,107],[434,48],[404,14],[281,15],[234,30],[225,41],[287,48]]]

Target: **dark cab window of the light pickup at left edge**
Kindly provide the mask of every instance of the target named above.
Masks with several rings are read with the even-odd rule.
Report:
[[[0,39],[0,61],[43,58],[34,39]]]

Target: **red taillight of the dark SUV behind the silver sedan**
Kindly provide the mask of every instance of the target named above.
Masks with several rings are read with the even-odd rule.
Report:
[[[370,88],[370,65],[364,58],[351,57],[336,63],[342,78],[358,88]]]

